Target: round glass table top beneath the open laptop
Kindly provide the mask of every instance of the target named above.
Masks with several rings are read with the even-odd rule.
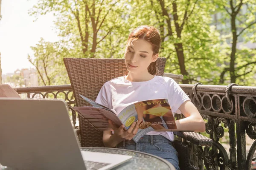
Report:
[[[81,147],[81,150],[133,156],[131,160],[113,168],[113,170],[175,170],[169,161],[139,151],[107,147]]]

